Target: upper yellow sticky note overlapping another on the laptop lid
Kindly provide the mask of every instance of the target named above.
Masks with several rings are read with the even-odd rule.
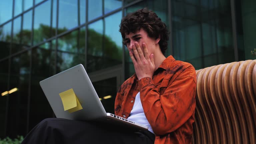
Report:
[[[72,109],[77,106],[77,98],[73,89],[69,89],[62,93],[59,93],[59,95],[63,103],[64,111]]]

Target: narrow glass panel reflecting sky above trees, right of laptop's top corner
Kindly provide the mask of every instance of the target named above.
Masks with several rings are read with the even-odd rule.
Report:
[[[88,26],[87,40],[87,72],[102,68],[103,63],[103,20],[96,21]]]

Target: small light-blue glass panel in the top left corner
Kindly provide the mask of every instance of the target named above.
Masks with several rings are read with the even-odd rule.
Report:
[[[0,1],[0,24],[12,18],[12,3],[13,1]]]

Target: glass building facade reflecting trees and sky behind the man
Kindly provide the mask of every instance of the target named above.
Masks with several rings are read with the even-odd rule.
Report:
[[[25,136],[54,117],[39,81],[77,64],[113,113],[117,90],[134,73],[119,24],[144,7],[171,32],[166,56],[196,69],[253,59],[255,0],[2,0],[0,138]]]

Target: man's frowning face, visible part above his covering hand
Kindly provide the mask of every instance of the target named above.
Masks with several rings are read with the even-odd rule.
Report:
[[[125,43],[129,51],[133,53],[132,46],[135,44],[135,42],[138,42],[142,51],[142,43],[146,43],[149,54],[154,54],[155,46],[156,46],[156,40],[154,38],[148,37],[148,34],[145,30],[140,29],[139,31],[135,33],[129,33],[125,35]]]

